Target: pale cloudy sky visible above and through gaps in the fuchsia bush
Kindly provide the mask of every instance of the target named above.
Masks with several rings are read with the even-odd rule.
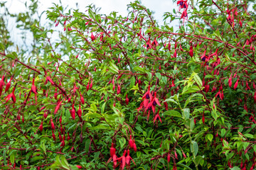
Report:
[[[0,2],[7,1],[6,7],[9,9],[11,13],[20,13],[26,11],[25,2],[28,0],[0,0]],[[43,11],[46,11],[48,8],[53,6],[53,3],[60,4],[60,0],[38,0],[38,13],[42,13]],[[131,0],[61,0],[61,3],[63,7],[73,8],[76,9],[78,4],[79,11],[83,12],[85,11],[85,7],[90,4],[95,4],[95,7],[100,7],[100,13],[109,14],[112,11],[117,11],[119,15],[127,16],[127,4],[130,3]],[[29,2],[29,1],[28,1]],[[173,0],[141,0],[142,5],[146,6],[146,8],[149,8],[151,11],[154,12],[154,18],[156,18],[156,21],[159,22],[160,25],[163,25],[163,15],[164,12],[172,12],[174,8],[178,8],[176,4],[173,3]],[[117,14],[117,15],[118,15]],[[42,16],[42,23],[47,23],[46,14],[43,14]],[[15,20],[9,21],[8,28],[11,32],[11,40],[13,42],[17,42],[18,45],[20,45],[22,42],[22,39],[19,35],[21,35],[22,30],[17,30],[15,28]],[[177,25],[177,23],[176,23]],[[26,35],[28,39],[32,36]]]

